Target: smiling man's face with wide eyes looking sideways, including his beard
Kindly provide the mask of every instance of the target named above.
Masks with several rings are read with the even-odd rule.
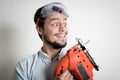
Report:
[[[63,14],[56,14],[45,19],[42,39],[55,49],[65,47],[67,43],[67,18]]]

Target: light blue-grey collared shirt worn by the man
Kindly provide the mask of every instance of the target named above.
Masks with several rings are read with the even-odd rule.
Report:
[[[21,60],[15,69],[15,80],[50,80],[54,74],[57,62],[66,54],[61,52],[51,60],[50,56],[42,51],[42,49],[33,55]]]

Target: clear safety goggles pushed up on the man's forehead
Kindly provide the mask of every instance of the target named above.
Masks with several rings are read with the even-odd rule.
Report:
[[[42,7],[41,17],[45,18],[58,13],[63,13],[66,17],[69,17],[68,13],[66,12],[66,8],[62,3],[52,2]]]

